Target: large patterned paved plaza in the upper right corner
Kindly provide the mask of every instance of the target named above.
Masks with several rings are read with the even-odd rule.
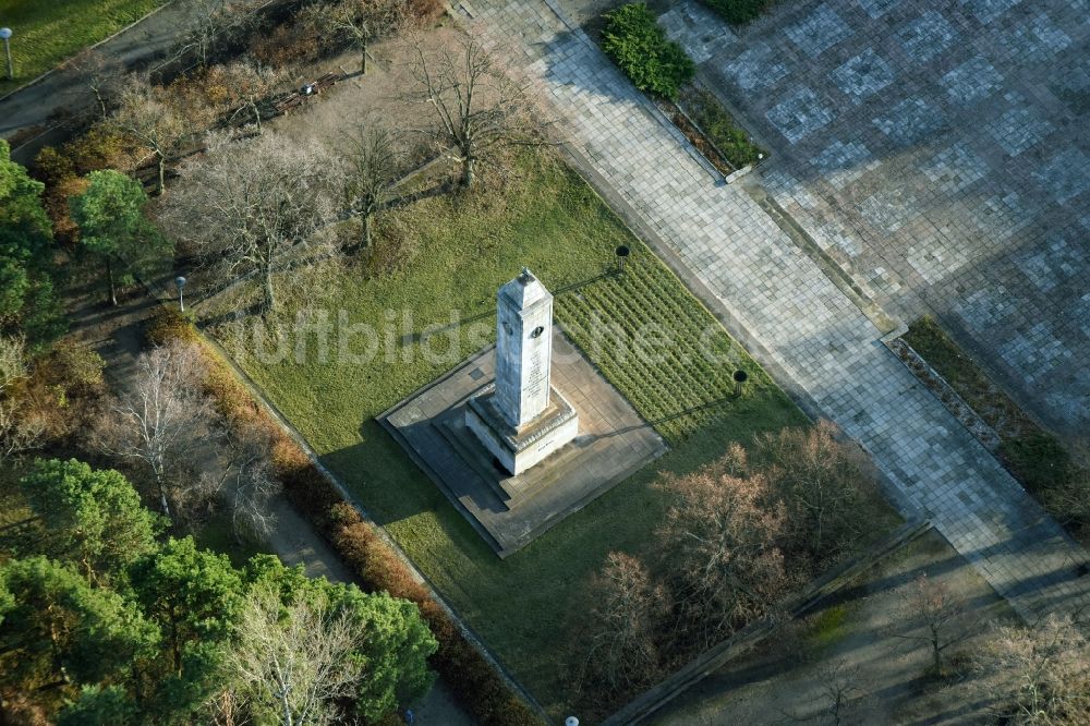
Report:
[[[1090,3],[782,2],[664,19],[772,149],[776,202],[887,312],[1090,427]]]

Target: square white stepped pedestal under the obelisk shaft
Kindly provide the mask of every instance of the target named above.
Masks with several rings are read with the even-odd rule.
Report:
[[[576,438],[579,416],[555,389],[549,404],[533,421],[511,426],[495,403],[495,386],[487,386],[465,407],[465,426],[512,475],[519,475]]]

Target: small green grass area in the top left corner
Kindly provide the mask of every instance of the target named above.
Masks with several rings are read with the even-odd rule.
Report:
[[[0,0],[0,26],[12,29],[15,80],[7,65],[0,96],[11,93],[83,48],[140,20],[165,0]],[[0,59],[0,63],[2,63]]]

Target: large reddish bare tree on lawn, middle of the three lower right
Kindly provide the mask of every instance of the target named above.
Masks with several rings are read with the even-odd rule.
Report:
[[[762,475],[728,471],[716,463],[662,484],[674,498],[659,537],[679,624],[703,645],[768,612],[789,586],[777,546],[783,503],[770,504]]]

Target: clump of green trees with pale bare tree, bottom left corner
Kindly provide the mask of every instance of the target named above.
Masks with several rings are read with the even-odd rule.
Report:
[[[0,693],[43,717],[378,722],[432,686],[437,644],[409,601],[162,541],[112,470],[37,461],[20,486],[35,517],[33,536],[0,537]]]

